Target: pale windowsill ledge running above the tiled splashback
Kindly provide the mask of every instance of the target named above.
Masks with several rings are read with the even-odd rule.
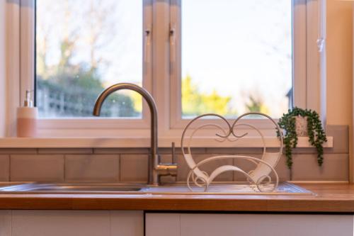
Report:
[[[333,137],[327,137],[324,147],[333,147]],[[258,137],[244,137],[237,142],[216,143],[211,137],[195,137],[193,147],[263,147]],[[159,147],[181,146],[180,137],[161,137]],[[279,147],[276,137],[265,137],[267,147]],[[114,148],[114,147],[150,147],[147,137],[5,137],[0,138],[0,148]],[[299,137],[297,147],[312,147],[308,137]]]

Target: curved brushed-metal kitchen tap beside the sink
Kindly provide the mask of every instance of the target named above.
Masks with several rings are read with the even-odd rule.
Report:
[[[159,185],[160,179],[159,176],[176,176],[177,174],[177,165],[176,164],[161,164],[160,156],[159,156],[159,145],[157,142],[158,132],[157,132],[157,108],[154,98],[149,92],[135,84],[121,83],[114,84],[110,86],[108,89],[105,89],[100,96],[98,96],[95,106],[93,108],[93,116],[100,116],[101,106],[103,101],[115,91],[128,89],[132,91],[136,91],[138,94],[142,95],[142,97],[147,101],[149,105],[149,110],[151,113],[151,147],[150,147],[150,157],[149,157],[149,185],[157,186]]]

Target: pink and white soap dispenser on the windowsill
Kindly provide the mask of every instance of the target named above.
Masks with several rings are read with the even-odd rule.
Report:
[[[25,101],[17,108],[17,137],[35,137],[37,135],[38,108],[30,99],[31,91],[25,91]]]

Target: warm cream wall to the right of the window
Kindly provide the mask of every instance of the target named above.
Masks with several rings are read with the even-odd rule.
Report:
[[[353,4],[327,0],[327,124],[350,127],[349,173],[350,181],[354,182],[352,120]]]

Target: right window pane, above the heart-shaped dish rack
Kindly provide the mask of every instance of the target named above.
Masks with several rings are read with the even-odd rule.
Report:
[[[292,1],[182,1],[182,116],[279,118],[292,91]]]

